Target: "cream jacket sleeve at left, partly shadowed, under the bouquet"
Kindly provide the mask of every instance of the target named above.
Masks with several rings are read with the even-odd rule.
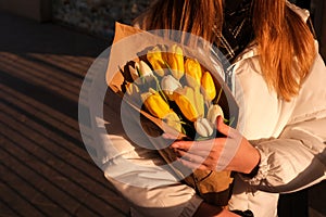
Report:
[[[202,203],[196,191],[168,169],[139,126],[139,113],[108,90],[105,178],[130,205],[131,216],[190,217]]]

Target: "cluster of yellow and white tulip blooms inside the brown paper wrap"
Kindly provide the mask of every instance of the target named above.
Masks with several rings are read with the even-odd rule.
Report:
[[[216,117],[224,116],[218,105],[222,89],[216,91],[211,73],[184,56],[179,46],[155,46],[126,66],[123,89],[141,100],[142,110],[190,139],[214,135]]]

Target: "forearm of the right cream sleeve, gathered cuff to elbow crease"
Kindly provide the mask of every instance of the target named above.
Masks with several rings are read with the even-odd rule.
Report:
[[[247,181],[268,192],[291,192],[324,180],[325,129],[326,118],[321,118],[289,126],[278,139],[251,141],[261,163],[258,175]]]

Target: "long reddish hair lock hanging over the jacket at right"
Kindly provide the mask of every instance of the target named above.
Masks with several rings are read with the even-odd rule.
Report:
[[[263,75],[268,86],[288,101],[298,94],[310,72],[314,36],[285,0],[254,1],[253,28]]]

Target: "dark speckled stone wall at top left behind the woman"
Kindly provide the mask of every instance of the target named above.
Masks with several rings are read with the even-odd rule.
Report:
[[[54,21],[98,36],[112,37],[116,21],[130,24],[151,1],[52,0],[52,16]]]

